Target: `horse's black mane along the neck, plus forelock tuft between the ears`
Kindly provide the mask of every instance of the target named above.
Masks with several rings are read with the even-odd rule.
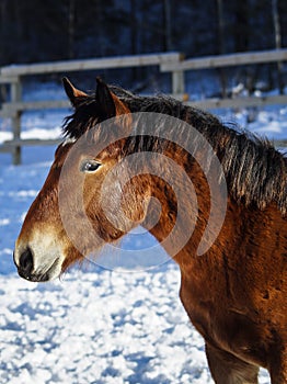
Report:
[[[222,165],[229,192],[237,201],[245,205],[255,204],[260,208],[275,202],[282,213],[286,214],[287,158],[266,138],[260,138],[234,125],[225,126],[213,114],[184,105],[170,97],[139,97],[119,87],[111,86],[110,89],[131,113],[162,113],[194,126],[215,149]],[[74,114],[66,118],[65,135],[77,139],[93,127],[99,123],[95,111],[95,98],[88,95]],[[133,145],[133,140],[130,144]]]

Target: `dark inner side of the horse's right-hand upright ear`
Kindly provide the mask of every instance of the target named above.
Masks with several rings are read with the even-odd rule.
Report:
[[[102,120],[111,118],[116,115],[116,105],[113,94],[100,77],[96,77],[95,99],[99,110],[101,111]]]

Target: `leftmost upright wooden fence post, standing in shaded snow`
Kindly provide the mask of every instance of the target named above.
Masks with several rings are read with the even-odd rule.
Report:
[[[18,103],[22,99],[21,78],[11,83],[11,103]],[[19,140],[21,135],[21,112],[15,111],[12,115],[13,140]],[[21,163],[21,146],[14,146],[12,150],[13,165]]]

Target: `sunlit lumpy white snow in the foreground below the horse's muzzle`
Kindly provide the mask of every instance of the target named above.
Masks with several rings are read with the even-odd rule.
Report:
[[[174,383],[190,370],[207,377],[203,341],[170,297],[177,289],[173,268],[131,275],[99,268],[53,284],[5,276],[2,382]]]

